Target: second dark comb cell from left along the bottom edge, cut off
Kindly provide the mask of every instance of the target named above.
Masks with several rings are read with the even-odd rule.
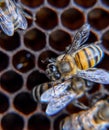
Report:
[[[34,114],[28,120],[28,130],[50,130],[50,120],[41,113]]]

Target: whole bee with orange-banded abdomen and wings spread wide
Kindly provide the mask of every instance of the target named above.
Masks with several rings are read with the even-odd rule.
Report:
[[[46,74],[52,81],[81,77],[92,82],[109,84],[109,73],[103,69],[93,68],[103,58],[100,44],[83,45],[90,32],[90,25],[84,24],[76,33],[66,53],[49,59]],[[83,46],[82,46],[83,45]]]

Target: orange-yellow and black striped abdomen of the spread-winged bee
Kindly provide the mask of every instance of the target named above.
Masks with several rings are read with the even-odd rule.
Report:
[[[96,64],[98,64],[102,59],[103,54],[103,50],[100,48],[100,46],[91,44],[79,50],[74,55],[74,60],[79,69],[87,70],[88,68],[94,67]]]

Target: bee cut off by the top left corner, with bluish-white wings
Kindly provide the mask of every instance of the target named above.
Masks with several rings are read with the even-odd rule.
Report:
[[[12,36],[18,28],[26,29],[27,21],[17,3],[12,0],[0,1],[0,28],[8,36]]]

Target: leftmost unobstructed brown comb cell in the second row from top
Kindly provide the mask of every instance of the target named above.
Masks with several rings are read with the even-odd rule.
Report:
[[[48,7],[43,7],[37,11],[36,23],[43,29],[53,29],[58,24],[56,12]]]

